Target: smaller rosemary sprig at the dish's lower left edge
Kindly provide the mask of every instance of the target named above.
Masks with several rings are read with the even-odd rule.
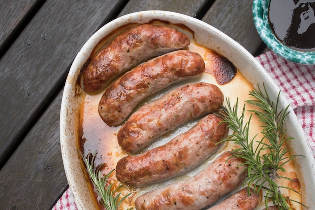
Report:
[[[113,184],[110,184],[106,187],[108,177],[111,175],[111,173],[113,173],[115,169],[111,170],[106,176],[102,177],[100,171],[102,164],[99,166],[95,165],[95,158],[97,154],[96,151],[93,155],[89,153],[86,158],[81,152],[80,154],[82,156],[83,162],[86,165],[86,171],[88,172],[90,179],[94,187],[96,188],[96,193],[101,198],[101,203],[104,205],[106,210],[117,210],[118,206],[123,202],[124,199],[131,195],[131,193],[119,199],[121,193],[118,193],[116,196],[115,193],[122,187],[122,185],[117,187],[115,190],[111,190]],[[131,209],[132,208],[127,210]]]

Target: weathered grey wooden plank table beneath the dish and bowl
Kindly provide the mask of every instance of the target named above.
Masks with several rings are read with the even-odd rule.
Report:
[[[97,29],[141,10],[201,19],[254,56],[266,49],[249,0],[2,0],[0,209],[51,209],[67,189],[59,114],[71,63]]]

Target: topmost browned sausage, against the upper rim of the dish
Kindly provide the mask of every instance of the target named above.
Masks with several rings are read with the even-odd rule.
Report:
[[[117,36],[92,58],[83,69],[83,89],[99,91],[140,62],[189,44],[189,37],[173,28],[152,24],[136,26]]]

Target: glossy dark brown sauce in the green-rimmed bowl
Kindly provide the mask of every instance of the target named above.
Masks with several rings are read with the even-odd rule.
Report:
[[[268,21],[275,36],[298,51],[315,51],[315,2],[271,0]]]

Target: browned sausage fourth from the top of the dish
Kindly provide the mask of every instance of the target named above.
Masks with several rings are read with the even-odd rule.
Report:
[[[144,186],[181,175],[212,155],[227,136],[226,123],[215,114],[202,118],[192,129],[139,156],[126,156],[116,166],[118,181]]]

